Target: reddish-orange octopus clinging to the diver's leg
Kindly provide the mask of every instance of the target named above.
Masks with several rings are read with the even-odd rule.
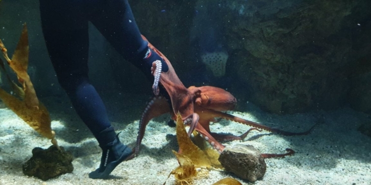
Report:
[[[144,36],[142,37],[143,39],[147,40]],[[293,136],[309,134],[315,126],[312,126],[305,132],[287,132],[225,113],[223,111],[233,110],[236,105],[236,99],[231,93],[224,89],[213,86],[190,86],[186,88],[179,79],[178,75],[175,73],[173,66],[165,55],[163,55],[149,42],[148,46],[164,59],[169,67],[169,70],[164,73],[161,71],[161,62],[153,62],[151,70],[152,74],[154,75],[154,83],[152,86],[154,96],[147,103],[147,106],[139,121],[139,132],[134,151],[135,156],[137,156],[139,153],[139,146],[143,139],[145,127],[147,126],[148,122],[152,118],[158,117],[165,113],[170,113],[171,118],[176,120],[177,113],[179,112],[185,124],[190,126],[188,135],[192,133],[193,129],[196,130],[206,141],[210,143],[213,148],[219,152],[222,152],[225,148],[225,146],[219,141],[243,140],[251,130],[261,131],[263,129],[281,135]],[[163,89],[161,93],[159,90],[159,84],[162,85],[161,88]],[[166,96],[166,98],[164,96]],[[252,128],[240,136],[213,133],[210,131],[209,124],[211,121],[215,122],[215,118],[217,117],[249,125]],[[283,157],[285,155],[291,155],[294,153],[294,151],[289,148],[287,148],[286,151],[287,153],[284,154],[267,153],[262,155],[265,158],[270,158]]]

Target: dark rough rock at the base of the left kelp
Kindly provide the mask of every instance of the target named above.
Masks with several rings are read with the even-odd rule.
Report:
[[[58,150],[54,146],[47,149],[32,149],[32,157],[22,165],[25,175],[34,176],[46,181],[61,174],[73,171],[73,156],[70,152],[60,147]]]

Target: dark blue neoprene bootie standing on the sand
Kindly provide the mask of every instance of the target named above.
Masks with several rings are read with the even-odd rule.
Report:
[[[120,134],[120,133],[119,133]],[[102,148],[102,157],[100,159],[99,168],[89,173],[89,178],[92,179],[107,179],[109,174],[132,154],[132,149],[122,144],[114,129],[109,127],[97,136],[99,147]],[[108,144],[102,144],[103,141],[111,141]]]

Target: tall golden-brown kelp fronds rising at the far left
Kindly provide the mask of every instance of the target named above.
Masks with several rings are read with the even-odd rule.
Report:
[[[39,102],[34,86],[30,80],[30,76],[27,74],[29,45],[26,24],[23,25],[23,31],[12,56],[12,59],[8,57],[7,49],[5,48],[1,39],[0,50],[2,51],[2,54],[9,67],[17,74],[18,82],[22,85],[21,88],[14,82],[11,83],[14,92],[18,94],[18,97],[20,99],[12,96],[1,88],[0,99],[9,109],[14,111],[34,130],[36,130],[42,136],[51,139],[51,143],[59,148],[55,139],[55,132],[52,131],[50,127],[51,120],[49,117],[49,113],[46,110],[46,107]],[[1,65],[1,68],[5,71],[3,63]],[[11,81],[9,77],[8,81]]]

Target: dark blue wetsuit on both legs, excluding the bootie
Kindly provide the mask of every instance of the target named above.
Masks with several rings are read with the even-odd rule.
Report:
[[[147,42],[140,36],[128,0],[40,0],[40,11],[58,81],[99,144],[104,145],[109,141],[100,139],[99,133],[111,124],[102,100],[89,82],[88,21],[149,78],[152,62],[160,57],[153,52],[144,59],[149,51]]]

